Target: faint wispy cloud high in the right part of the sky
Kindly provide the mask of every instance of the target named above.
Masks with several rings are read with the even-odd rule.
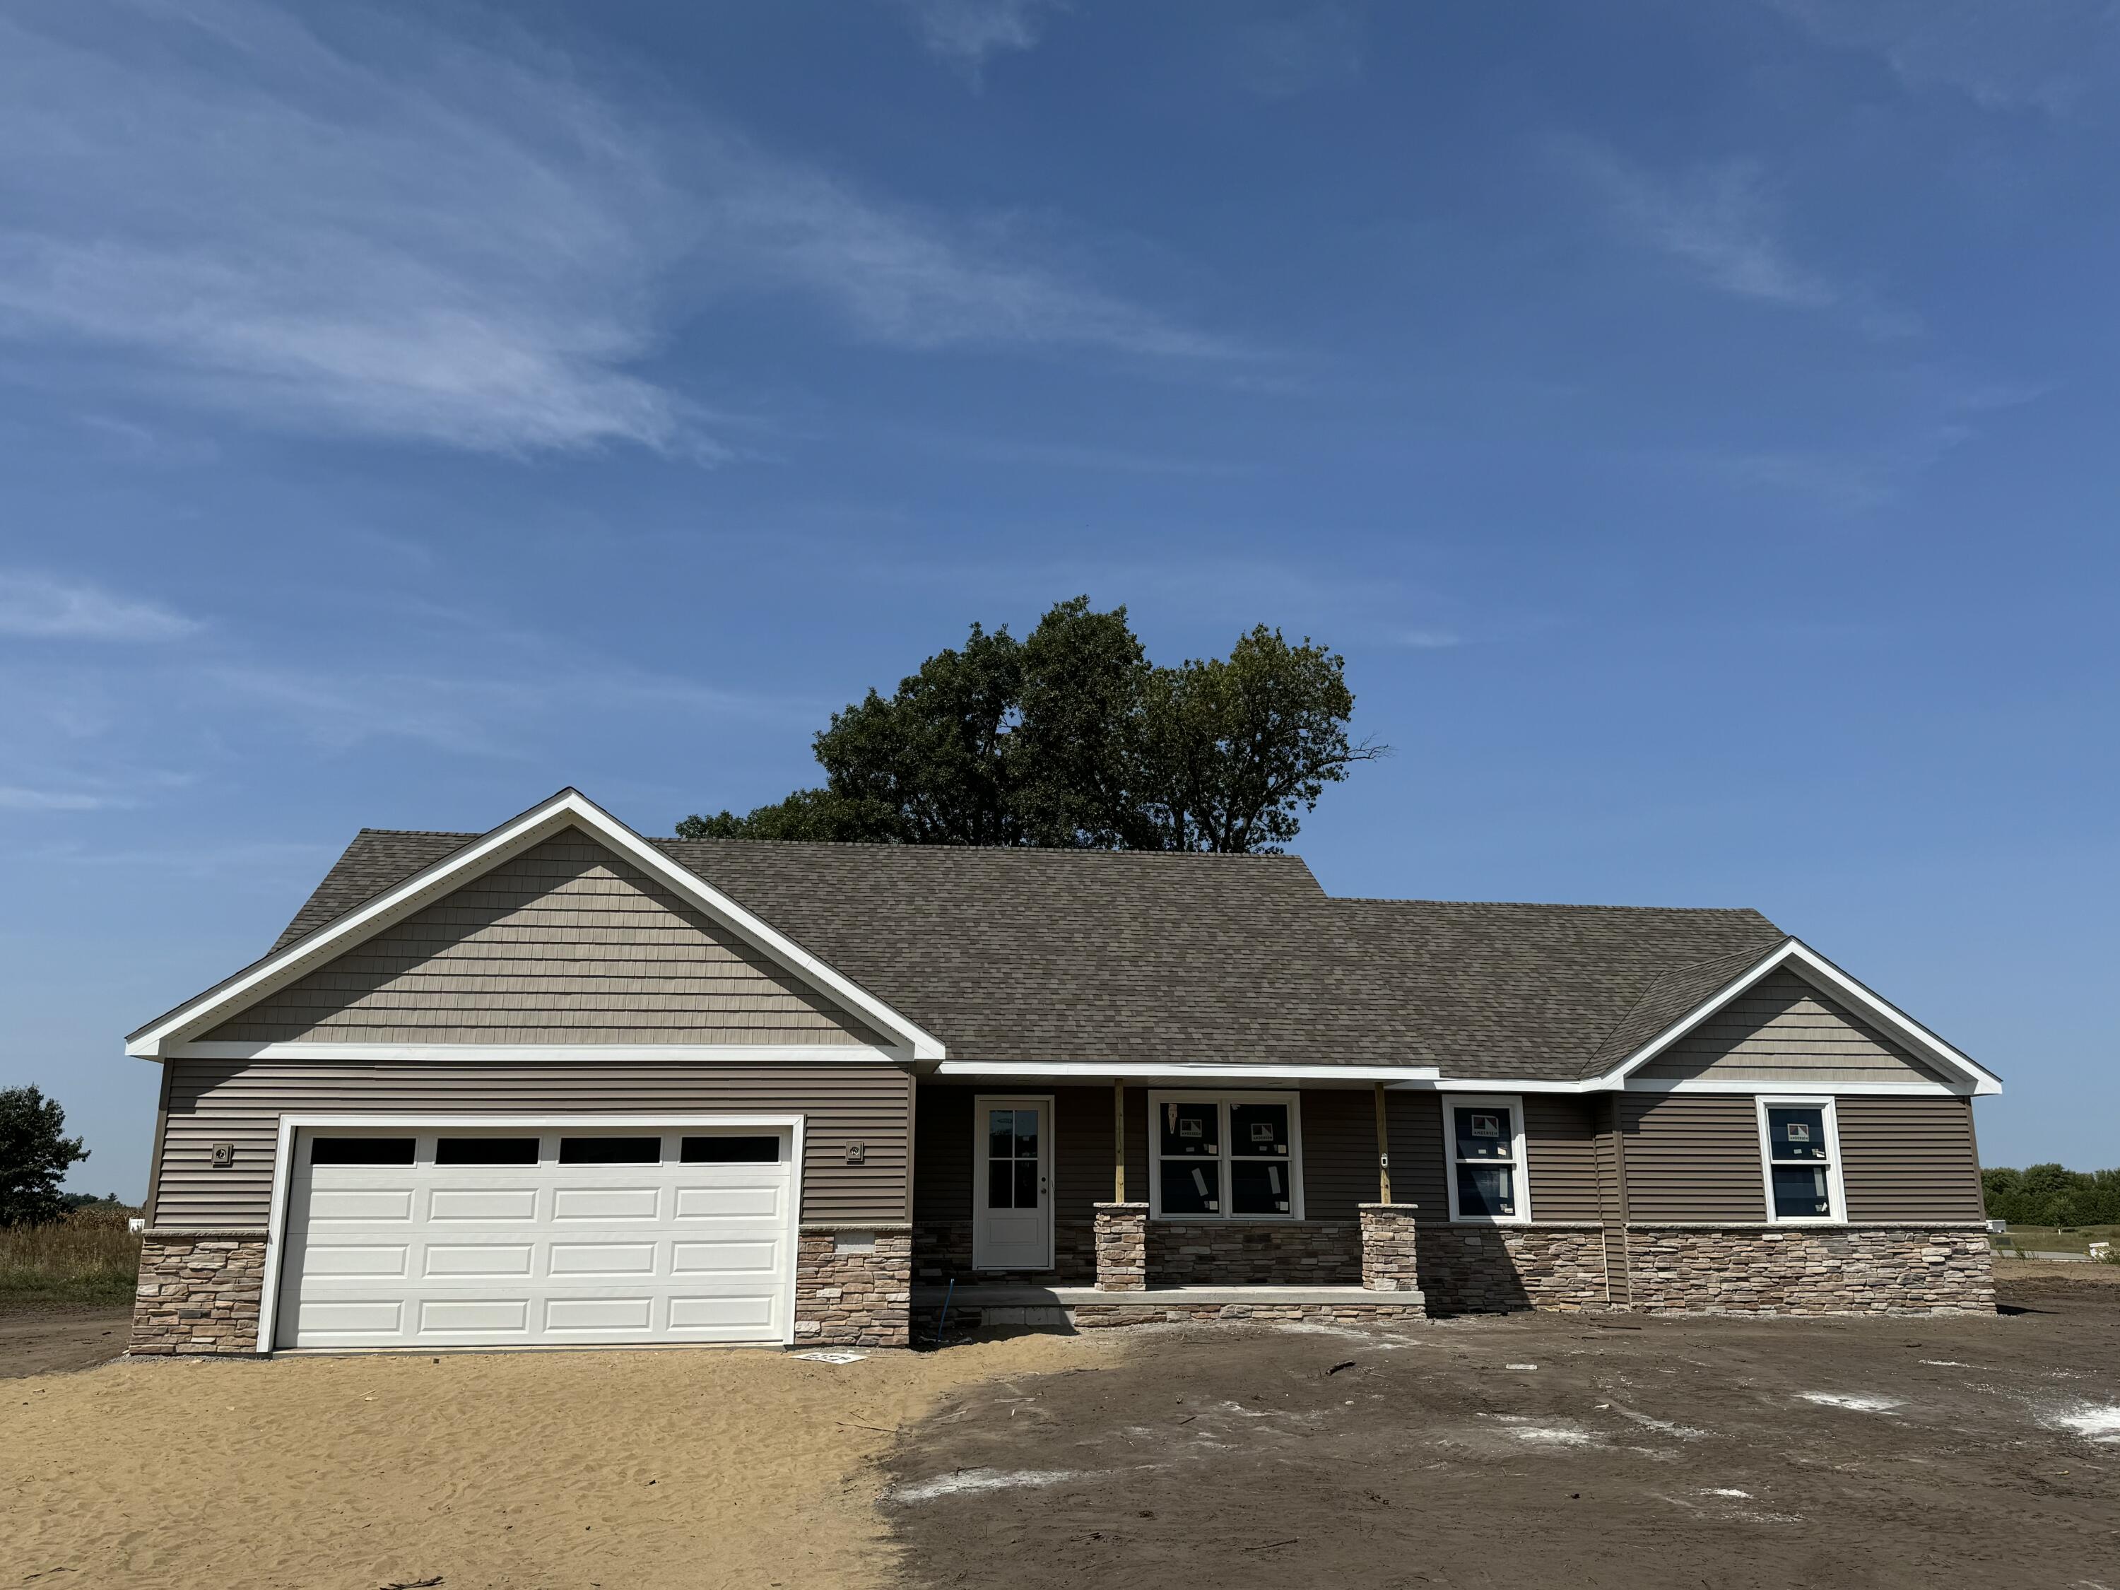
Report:
[[[1908,314],[1796,257],[1781,201],[1755,161],[1660,176],[1588,138],[1556,148],[1624,237],[1658,250],[1702,286],[1791,310],[1842,310],[1878,337],[1916,329]]]

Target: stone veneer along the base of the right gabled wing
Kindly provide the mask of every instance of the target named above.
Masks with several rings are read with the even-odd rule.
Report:
[[[1645,1314],[1993,1314],[1986,1230],[1632,1225]]]

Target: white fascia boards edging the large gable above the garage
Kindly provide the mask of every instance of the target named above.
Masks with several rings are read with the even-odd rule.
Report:
[[[134,1032],[125,1041],[125,1054],[144,1060],[161,1058],[165,1043],[180,1039],[189,1030],[199,1030],[227,1020],[276,988],[301,977],[305,971],[343,954],[354,943],[360,943],[392,922],[430,905],[452,888],[462,886],[471,878],[498,867],[509,856],[515,856],[570,827],[583,829],[596,840],[602,840],[613,850],[634,861],[642,871],[659,878],[676,895],[689,899],[702,912],[742,937],[755,950],[816,984],[820,990],[831,992],[850,1011],[897,1037],[916,1060],[939,1060],[946,1054],[937,1037],[907,1022],[871,992],[827,967],[791,937],[746,912],[691,869],[670,861],[670,856],[619,823],[611,816],[611,812],[600,808],[579,789],[562,789],[551,799],[538,801],[528,812],[502,823],[492,833],[473,840],[430,867],[422,867],[405,882],[384,890],[367,905],[348,912],[337,922],[297,939],[278,954],[269,954],[227,982],[220,982],[204,994],[184,1001],[167,1015]]]

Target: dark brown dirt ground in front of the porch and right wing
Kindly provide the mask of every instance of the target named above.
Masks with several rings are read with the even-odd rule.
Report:
[[[2010,1302],[1136,1329],[946,1399],[884,1507],[916,1586],[2112,1590],[2120,1287]]]

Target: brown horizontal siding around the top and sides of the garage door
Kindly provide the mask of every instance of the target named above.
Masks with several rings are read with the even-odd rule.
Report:
[[[912,1077],[880,1062],[165,1060],[161,1225],[265,1225],[280,1115],[803,1115],[810,1221],[907,1219]],[[212,1168],[212,1145],[235,1164]],[[863,1164],[846,1164],[850,1143]]]

